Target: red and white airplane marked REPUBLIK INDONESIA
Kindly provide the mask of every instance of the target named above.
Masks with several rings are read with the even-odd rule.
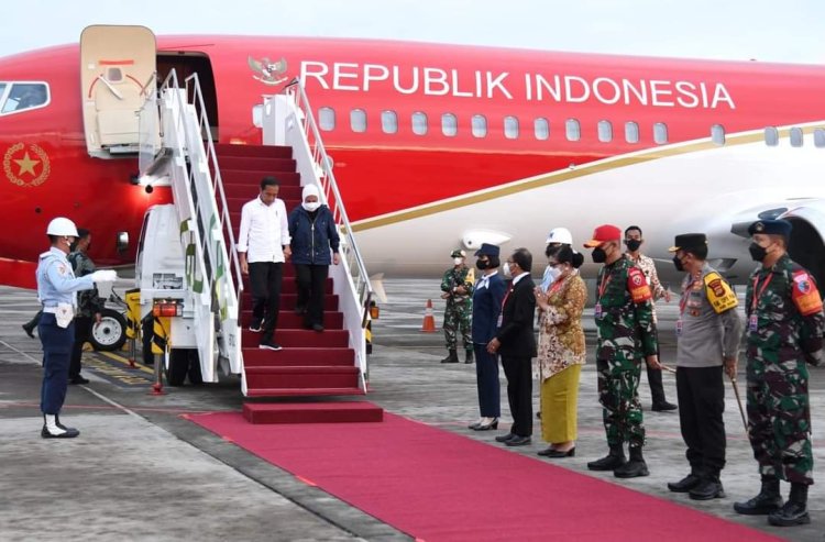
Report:
[[[261,144],[262,97],[302,81],[371,274],[436,276],[485,242],[543,267],[552,228],[583,250],[614,223],[641,226],[660,262],[675,234],[704,232],[712,264],[741,284],[748,224],[784,217],[791,255],[825,280],[823,67],[191,35],[0,58],[1,284],[34,287],[57,215],[94,231],[98,265],[134,262],[127,239],[172,195],[136,182],[136,129],[122,124],[173,68],[198,75],[228,144]]]

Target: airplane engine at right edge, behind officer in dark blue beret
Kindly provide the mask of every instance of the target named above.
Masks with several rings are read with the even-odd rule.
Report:
[[[825,289],[825,200],[806,201],[780,218],[793,224],[788,247],[791,258],[813,274],[822,291]]]

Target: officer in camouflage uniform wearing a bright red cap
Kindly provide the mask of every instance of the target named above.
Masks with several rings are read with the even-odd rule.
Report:
[[[645,274],[632,262],[623,257],[622,230],[601,225],[584,246],[593,248],[593,261],[605,264],[596,281],[594,310],[598,340],[596,370],[598,402],[609,453],[587,463],[591,471],[613,471],[618,478],[647,476],[648,467],[641,454],[645,444],[639,377],[642,357],[649,366],[661,368],[657,356],[656,324],[652,295]],[[630,461],[625,460],[624,443],[629,443]]]

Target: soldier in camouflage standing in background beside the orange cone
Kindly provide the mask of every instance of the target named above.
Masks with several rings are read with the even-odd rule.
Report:
[[[444,272],[441,279],[441,299],[447,300],[444,309],[444,339],[450,354],[441,363],[459,363],[457,352],[458,339],[455,333],[461,330],[466,357],[464,363],[473,363],[473,341],[470,336],[470,320],[473,314],[473,284],[475,273],[464,264],[466,253],[452,251],[450,253],[453,266]]]

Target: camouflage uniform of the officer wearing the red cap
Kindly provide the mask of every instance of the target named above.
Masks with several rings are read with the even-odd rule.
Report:
[[[602,267],[596,283],[598,402],[609,446],[645,444],[639,403],[644,356],[657,352],[650,287],[627,258]]]

